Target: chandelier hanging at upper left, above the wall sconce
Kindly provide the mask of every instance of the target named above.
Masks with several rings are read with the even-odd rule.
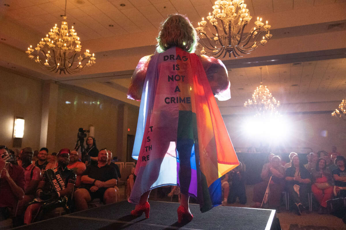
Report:
[[[66,2],[67,0],[65,0],[65,14],[60,30],[55,24],[46,37],[37,44],[35,50],[30,45],[25,52],[30,59],[34,59],[46,70],[73,74],[82,71],[85,66],[90,67],[95,64],[96,58],[88,49],[84,55],[79,54],[82,48],[80,38],[73,26],[70,30],[67,27]]]

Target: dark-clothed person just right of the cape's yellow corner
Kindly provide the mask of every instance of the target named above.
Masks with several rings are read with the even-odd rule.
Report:
[[[239,165],[228,173],[228,182],[230,184],[230,191],[227,199],[228,203],[235,203],[237,197],[241,204],[246,203],[245,176],[242,166],[242,163],[239,162]]]

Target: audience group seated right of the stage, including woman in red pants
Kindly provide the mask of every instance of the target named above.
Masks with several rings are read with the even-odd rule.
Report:
[[[263,181],[254,186],[253,208],[263,207],[266,203],[267,187],[270,208],[279,211],[281,193],[285,191],[298,215],[304,210],[309,211],[310,193],[318,203],[319,214],[329,213],[327,201],[346,197],[346,159],[343,156],[324,151],[320,156],[310,153],[307,155],[308,163],[304,165],[295,152],[291,152],[289,158],[290,162],[282,166],[279,156],[269,155],[269,163],[264,164],[261,172]]]

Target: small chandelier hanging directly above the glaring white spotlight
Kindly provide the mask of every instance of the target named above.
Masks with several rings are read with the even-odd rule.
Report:
[[[262,83],[262,67],[261,69],[261,84],[257,87],[252,94],[252,100],[248,99],[244,103],[244,107],[249,107],[256,112],[255,116],[261,116],[264,114],[279,115],[276,108],[280,106],[280,101],[272,96],[267,86],[263,86]]]

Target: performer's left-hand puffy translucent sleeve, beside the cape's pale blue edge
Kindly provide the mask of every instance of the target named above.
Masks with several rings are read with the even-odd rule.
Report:
[[[148,55],[139,60],[131,77],[131,84],[127,93],[128,99],[140,101],[140,98],[142,97],[145,75],[147,73],[151,57],[152,55]]]

